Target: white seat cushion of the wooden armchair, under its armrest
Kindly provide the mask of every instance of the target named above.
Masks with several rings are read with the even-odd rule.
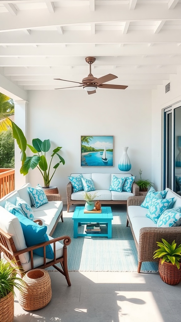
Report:
[[[51,236],[48,236],[49,240],[53,239]],[[59,258],[59,257],[62,257],[63,256],[63,244],[61,242],[56,242],[55,243],[56,245],[56,258]],[[53,249],[53,244],[51,245],[52,249]],[[46,259],[46,263],[50,262],[51,259]],[[43,257],[39,256],[39,255],[36,255],[36,254],[33,254],[33,265],[34,265],[34,268],[40,266],[40,265],[43,265]],[[25,271],[27,270],[31,270],[31,259],[29,260],[28,263],[26,264],[23,264],[23,269]]]

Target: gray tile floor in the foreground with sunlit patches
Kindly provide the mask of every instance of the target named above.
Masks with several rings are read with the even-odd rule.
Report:
[[[25,311],[16,291],[14,322],[181,321],[181,283],[167,285],[159,273],[70,272],[71,287],[61,273],[49,274],[50,303]]]

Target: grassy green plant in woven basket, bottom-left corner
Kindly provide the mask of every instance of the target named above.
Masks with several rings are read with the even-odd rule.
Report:
[[[14,320],[14,287],[19,290],[24,287],[24,281],[16,273],[10,262],[0,259],[0,321]]]

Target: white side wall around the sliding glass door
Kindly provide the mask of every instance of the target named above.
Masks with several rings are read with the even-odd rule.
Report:
[[[164,85],[159,85],[157,90],[152,91],[152,181],[157,190],[162,189],[162,151],[163,151],[163,119],[162,109],[171,106],[181,100],[181,69],[176,75],[170,76],[170,91],[165,93]]]

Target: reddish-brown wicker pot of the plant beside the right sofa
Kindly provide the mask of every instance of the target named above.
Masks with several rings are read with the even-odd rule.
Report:
[[[169,285],[176,285],[181,280],[181,264],[178,270],[176,265],[172,263],[164,262],[161,264],[161,259],[159,260],[158,271],[161,279]]]

